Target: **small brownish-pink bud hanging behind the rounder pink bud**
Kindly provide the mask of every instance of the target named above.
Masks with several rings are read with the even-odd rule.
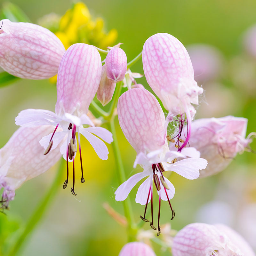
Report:
[[[97,91],[97,99],[100,101],[102,106],[108,104],[112,100],[113,94],[115,92],[116,83],[108,79],[106,72],[106,64],[102,66],[100,85]]]

